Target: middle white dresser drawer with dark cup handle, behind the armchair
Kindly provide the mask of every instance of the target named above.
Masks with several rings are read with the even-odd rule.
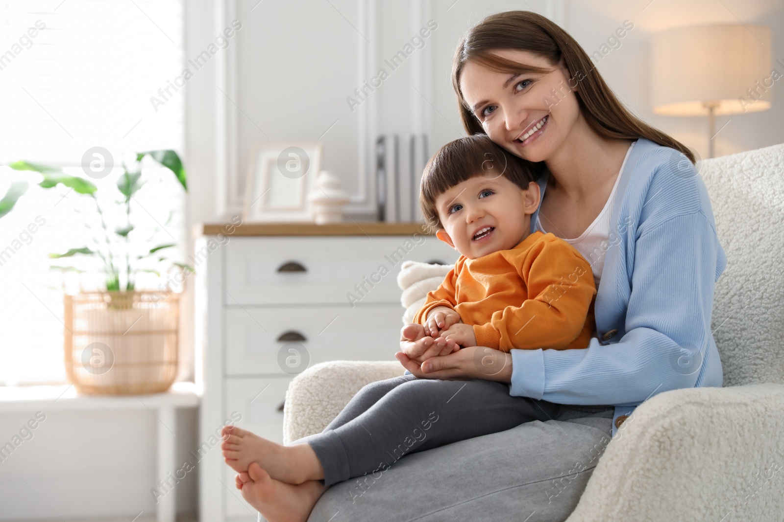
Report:
[[[394,361],[400,304],[223,311],[227,375],[302,373],[333,360]]]

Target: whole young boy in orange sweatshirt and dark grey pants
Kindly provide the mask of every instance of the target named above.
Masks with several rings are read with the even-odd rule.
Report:
[[[416,323],[405,327],[419,338],[437,337],[419,362],[460,346],[587,346],[593,274],[568,243],[530,233],[530,216],[539,207],[532,167],[485,135],[458,139],[427,164],[420,203],[437,237],[462,255],[428,293]],[[226,427],[221,448],[239,473],[256,462],[289,484],[331,485],[368,473],[377,480],[376,473],[408,453],[545,422],[559,411],[548,401],[512,397],[508,385],[491,380],[408,374],[363,387],[321,434],[281,446]]]

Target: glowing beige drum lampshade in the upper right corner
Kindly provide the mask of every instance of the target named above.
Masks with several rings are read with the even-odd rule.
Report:
[[[681,27],[656,34],[651,54],[656,114],[704,116],[709,106],[714,114],[735,114],[771,106],[771,85],[764,86],[766,78],[771,83],[768,27]]]

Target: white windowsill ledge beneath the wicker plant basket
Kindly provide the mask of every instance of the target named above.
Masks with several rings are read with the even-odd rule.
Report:
[[[0,387],[0,413],[42,411],[187,408],[198,406],[201,393],[194,383],[174,383],[162,394],[84,395],[71,384]]]

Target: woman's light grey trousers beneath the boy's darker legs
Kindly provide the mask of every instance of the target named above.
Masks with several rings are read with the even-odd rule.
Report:
[[[466,381],[452,382],[462,386]],[[504,386],[508,398],[509,386]],[[546,401],[538,404],[544,407]],[[426,452],[409,451],[387,469],[334,484],[318,499],[308,522],[562,522],[610,443],[614,407],[551,406],[557,406],[552,419]],[[351,415],[344,413],[343,423]],[[434,426],[440,422],[441,417]]]

